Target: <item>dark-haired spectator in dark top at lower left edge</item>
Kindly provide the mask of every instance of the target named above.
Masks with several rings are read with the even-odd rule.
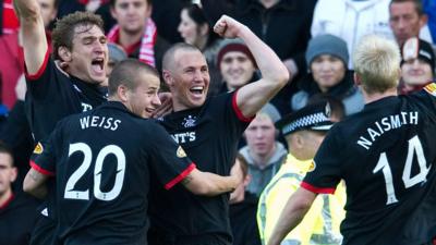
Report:
[[[0,143],[0,241],[8,245],[28,245],[38,203],[12,189],[16,175],[12,152]]]

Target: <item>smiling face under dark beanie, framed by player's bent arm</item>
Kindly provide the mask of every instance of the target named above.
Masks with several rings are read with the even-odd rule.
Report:
[[[223,81],[231,90],[244,86],[253,77],[256,69],[252,60],[243,52],[227,52],[220,63]]]

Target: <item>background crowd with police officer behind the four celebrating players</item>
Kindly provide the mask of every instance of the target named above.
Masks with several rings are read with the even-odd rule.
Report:
[[[213,26],[222,14],[246,25],[276,52],[290,78],[259,110],[239,143],[237,160],[242,162],[244,182],[230,196],[235,245],[266,244],[283,201],[310,170],[311,159],[325,136],[325,130],[320,137],[318,130],[312,128],[314,125],[284,132],[283,120],[286,124],[323,111],[324,108],[314,106],[319,101],[330,105],[336,114],[331,121],[340,121],[364,108],[363,95],[353,79],[351,59],[363,36],[376,34],[400,47],[398,91],[401,95],[420,90],[434,81],[436,72],[436,3],[432,0],[38,2],[50,52],[51,44],[57,41],[51,39],[57,20],[75,11],[95,12],[102,17],[109,48],[107,77],[118,62],[128,58],[138,59],[161,73],[165,52],[173,44],[186,42],[197,47],[206,58],[210,74],[208,97],[258,81],[262,77],[258,64],[244,41],[222,39],[214,33]],[[21,45],[25,38],[13,1],[3,0],[0,5],[0,244],[8,241],[4,244],[9,245],[28,244],[33,226],[28,224],[36,219],[38,205],[38,200],[22,194],[36,146],[25,114],[26,71]],[[58,56],[52,53],[55,59]],[[168,89],[164,83],[161,88]],[[17,197],[20,203],[13,203]],[[307,222],[287,236],[289,241],[340,244],[344,191],[338,189],[328,198],[319,198]],[[22,213],[22,218],[11,213]],[[326,226],[330,226],[327,232]],[[12,240],[14,236],[20,238]]]

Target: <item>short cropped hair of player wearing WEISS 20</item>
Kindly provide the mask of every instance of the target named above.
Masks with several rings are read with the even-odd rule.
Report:
[[[155,68],[136,59],[126,59],[117,63],[109,75],[109,96],[116,95],[120,85],[134,90],[140,83],[137,77],[141,72],[159,77],[159,73]]]

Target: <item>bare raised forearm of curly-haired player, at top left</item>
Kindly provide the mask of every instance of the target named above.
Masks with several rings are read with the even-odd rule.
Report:
[[[24,61],[28,74],[36,74],[43,65],[48,49],[46,30],[36,0],[14,0],[23,36]]]

